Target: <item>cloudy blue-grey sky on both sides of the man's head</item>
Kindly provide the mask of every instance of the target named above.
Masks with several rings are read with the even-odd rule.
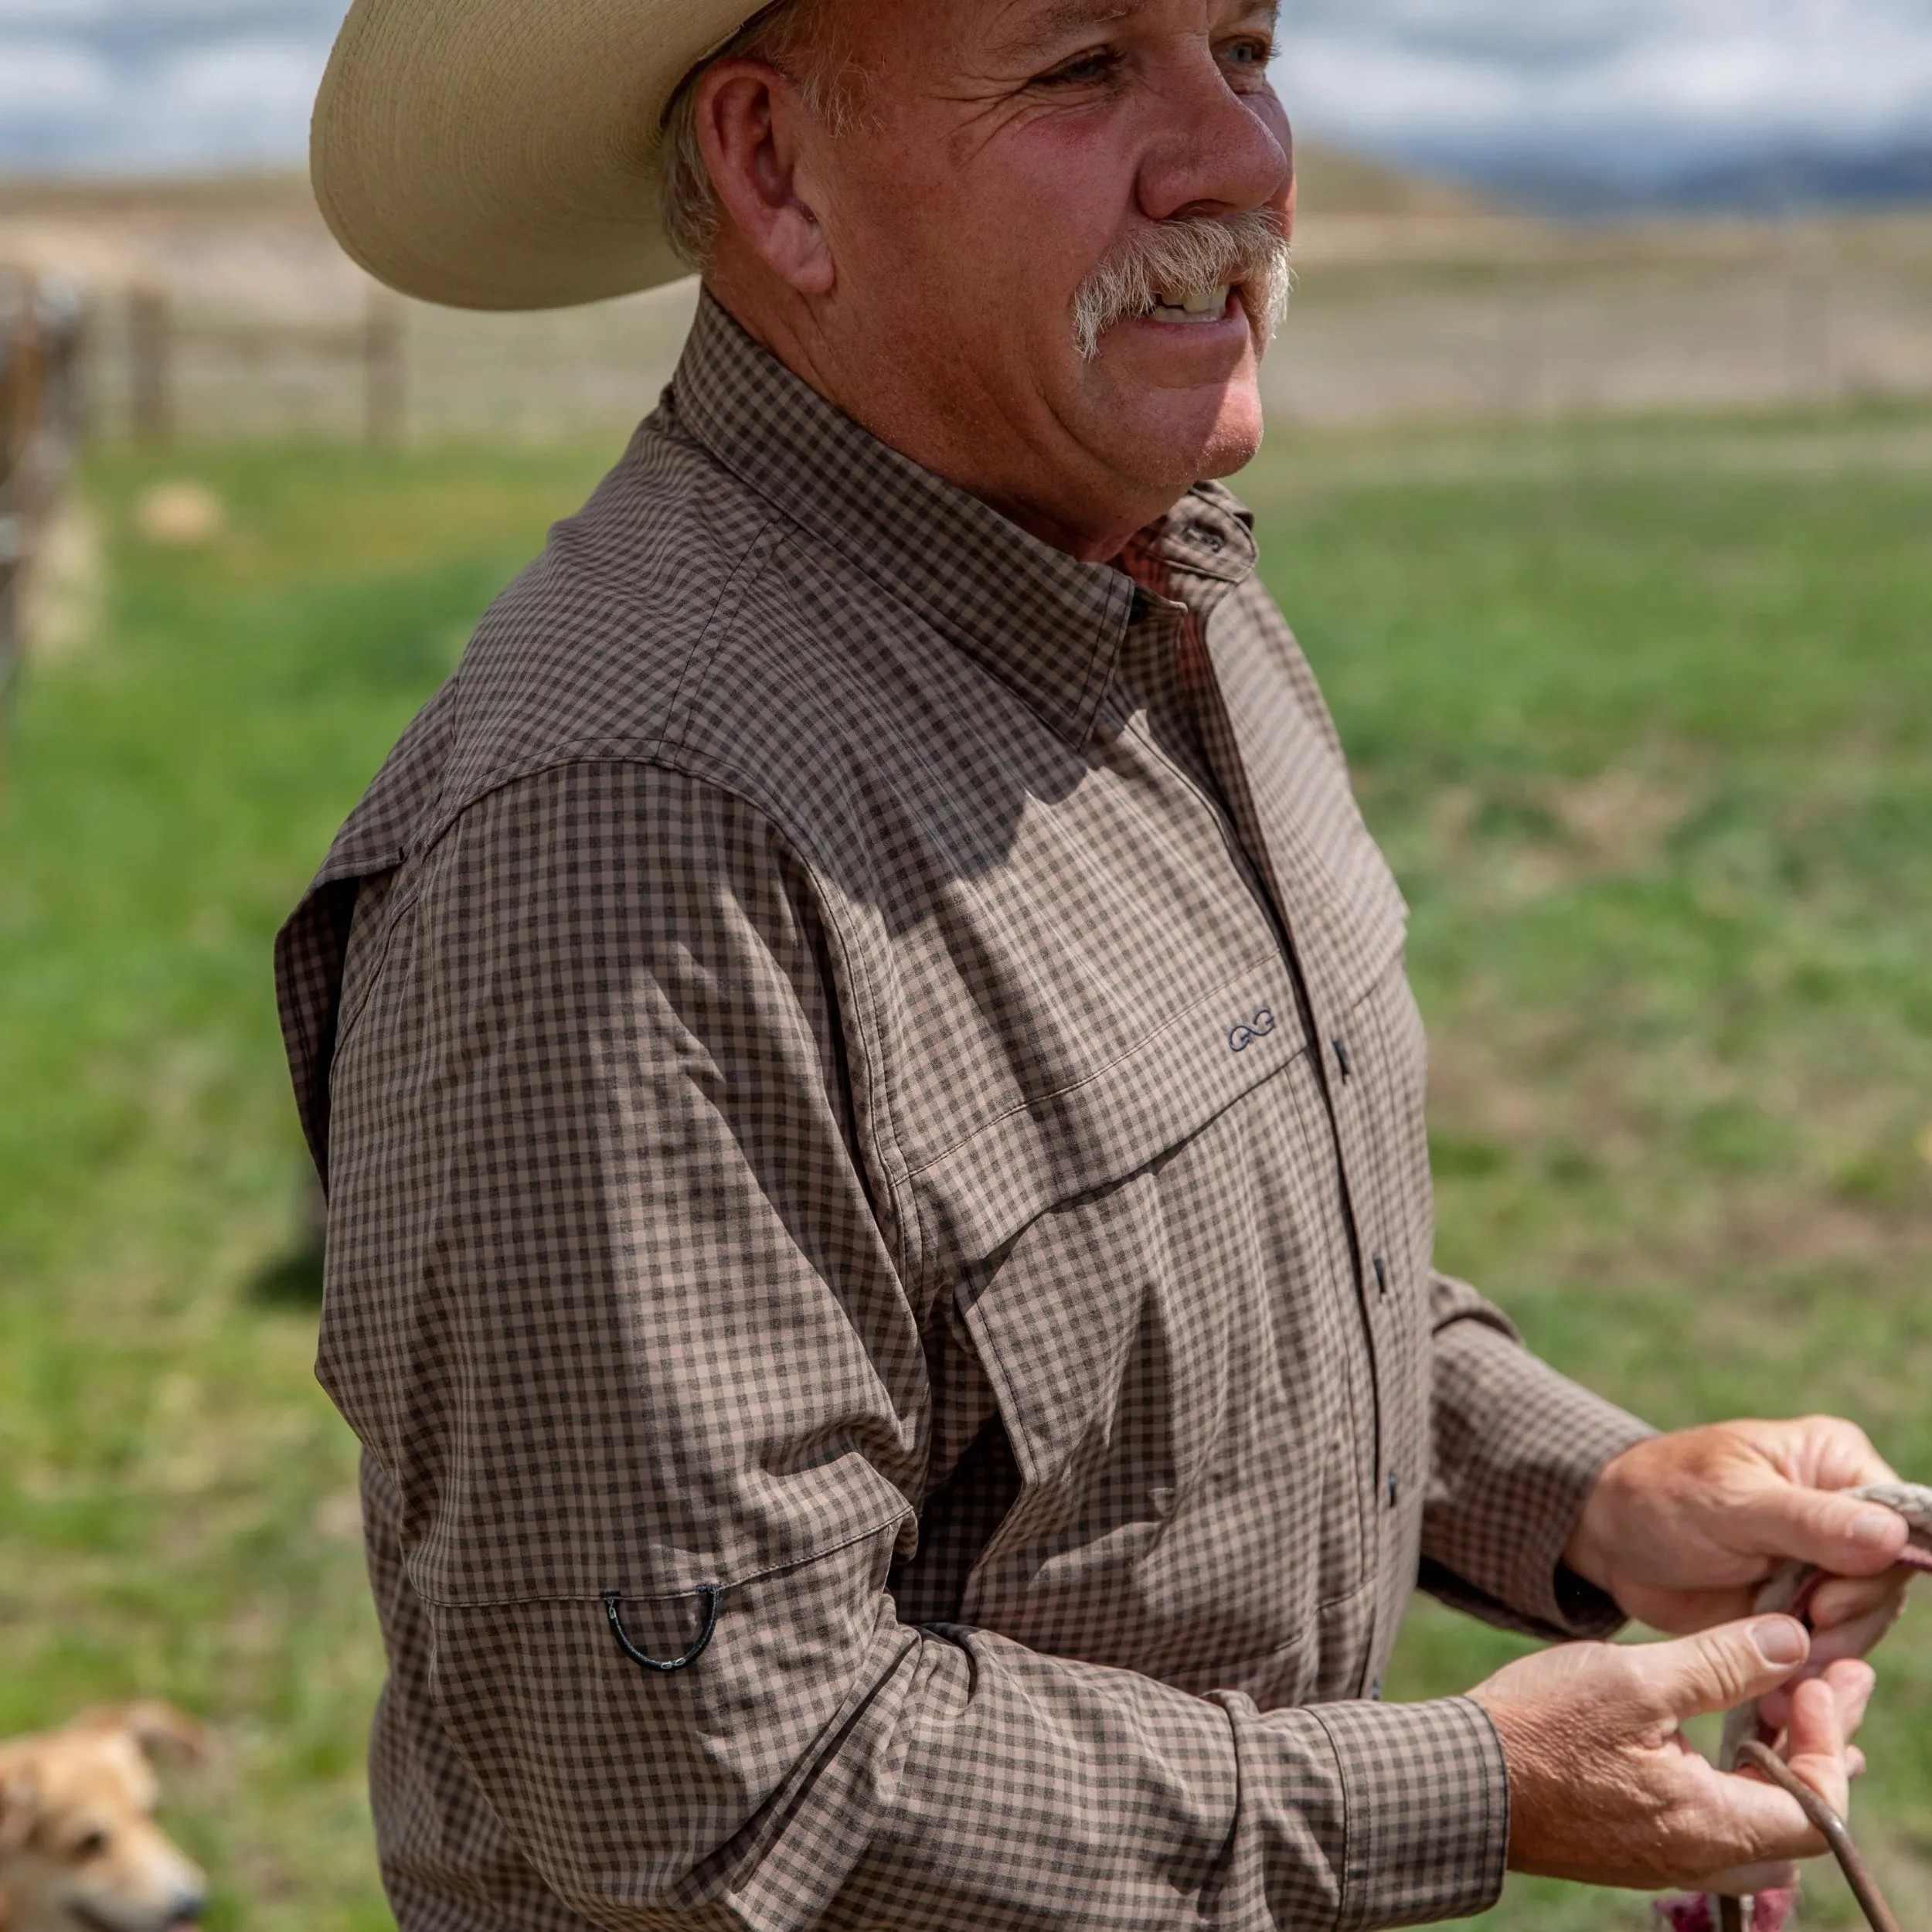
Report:
[[[342,0],[0,0],[0,168],[294,164]],[[1932,147],[1932,0],[1283,0],[1298,126],[1642,178]]]

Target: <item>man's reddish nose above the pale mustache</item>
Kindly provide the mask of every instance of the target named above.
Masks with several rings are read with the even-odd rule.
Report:
[[[1202,41],[1167,64],[1155,97],[1155,133],[1136,182],[1148,220],[1227,214],[1279,203],[1294,180],[1294,141],[1273,91],[1236,93]]]

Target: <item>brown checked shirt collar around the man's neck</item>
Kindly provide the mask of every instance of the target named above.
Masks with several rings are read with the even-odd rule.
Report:
[[[1084,744],[1126,628],[1148,599],[887,448],[753,342],[709,296],[672,383],[678,421],[790,522],[837,549]],[[1254,568],[1246,512],[1198,485],[1144,533],[1186,580],[1225,589]],[[1202,587],[1208,587],[1208,582]]]

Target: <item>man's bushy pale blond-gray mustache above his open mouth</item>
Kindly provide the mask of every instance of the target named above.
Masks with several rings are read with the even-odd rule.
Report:
[[[1153,309],[1163,290],[1238,284],[1256,352],[1275,340],[1294,288],[1289,240],[1273,209],[1238,214],[1186,214],[1150,222],[1117,242],[1074,292],[1074,346],[1082,361],[1099,354],[1099,338],[1115,323]]]

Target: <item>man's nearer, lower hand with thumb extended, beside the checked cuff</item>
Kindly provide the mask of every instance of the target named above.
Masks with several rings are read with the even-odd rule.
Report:
[[[1509,1768],[1511,1870],[1642,1891],[1789,1886],[1824,1839],[1795,1799],[1718,1772],[1679,1725],[1789,1683],[1808,1650],[1793,1617],[1750,1617],[1667,1644],[1563,1644],[1478,1685]],[[1793,1694],[1785,1756],[1839,1816],[1870,1694],[1851,1658]]]

